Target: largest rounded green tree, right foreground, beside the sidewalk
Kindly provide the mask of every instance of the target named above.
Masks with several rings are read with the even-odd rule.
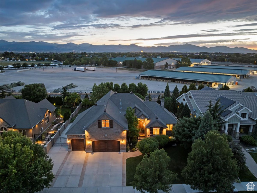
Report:
[[[192,189],[203,192],[233,190],[233,181],[237,178],[238,168],[233,153],[228,146],[227,137],[218,131],[209,131],[205,141],[197,139],[182,170],[185,182]]]

